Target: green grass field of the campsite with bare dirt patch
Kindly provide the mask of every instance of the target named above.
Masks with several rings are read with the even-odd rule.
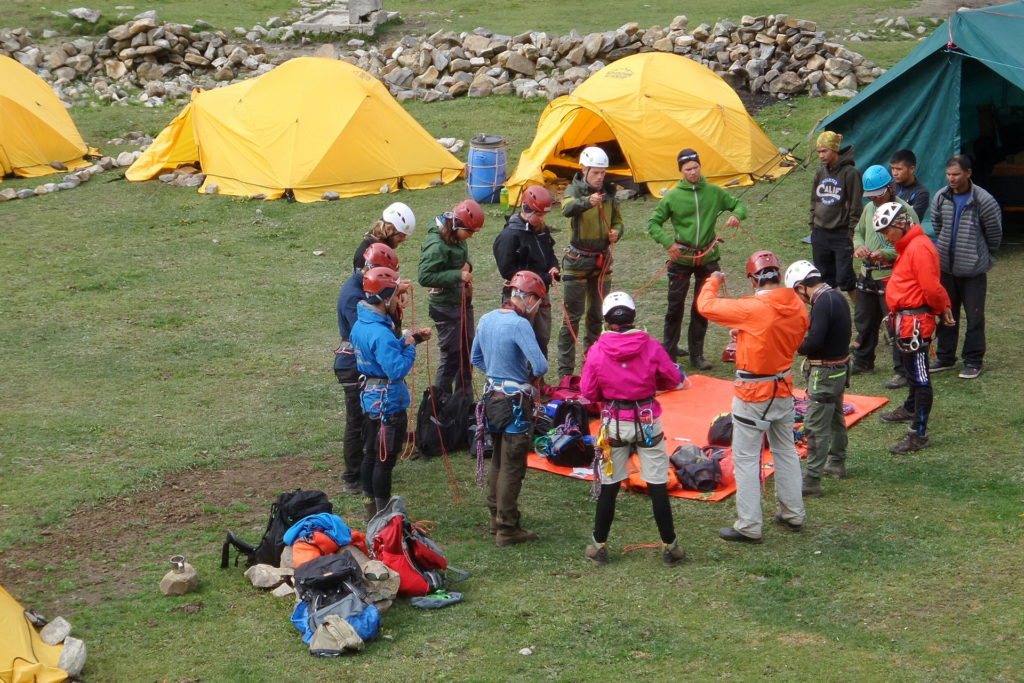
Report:
[[[95,6],[108,4],[115,3]],[[410,24],[440,20],[429,12],[455,7],[457,29],[508,32],[648,26],[678,13],[665,3],[636,11],[588,3],[586,12],[571,2],[394,4]],[[63,5],[74,6],[45,7]],[[202,10],[225,27],[287,9],[281,1],[153,6],[167,19],[190,20]],[[36,22],[46,13],[29,0],[13,7],[13,16]],[[692,24],[769,9],[696,3],[686,13]],[[841,3],[798,2],[786,11],[837,28],[873,16],[870,6],[861,12]],[[898,58],[898,47],[874,49]],[[437,137],[503,135],[514,163],[545,103],[489,97],[408,109]],[[836,106],[801,99],[756,118],[776,144],[803,156],[802,140]],[[108,139],[156,133],[175,114],[72,111],[86,139],[108,154],[119,151]],[[874,161],[884,160],[858,166]],[[813,171],[737,190],[751,206],[751,238],[740,233],[723,248],[730,295],[744,293],[742,267],[754,249],[776,250],[785,262],[809,256],[800,238]],[[466,600],[437,612],[396,603],[365,652],[318,659],[288,622],[289,599],[252,589],[241,569],[218,568],[220,542],[226,528],[258,538],[275,492],[296,485],[327,490],[336,511],[361,526],[358,498],[340,495],[343,398],[331,372],[338,289],[362,232],[395,200],[409,203],[421,225],[398,250],[402,273],[415,272],[422,226],[461,200],[465,185],[300,205],[117,177],[0,205],[0,584],[27,606],[72,621],[89,649],[85,680],[1021,679],[1019,226],[1008,230],[990,274],[985,374],[973,382],[936,376],[933,446],[918,455],[888,453],[900,426],[872,416],[854,428],[851,476],[826,481],[826,496],[807,502],[803,533],[766,527],[762,546],[726,545],[716,531],[734,518],[731,500],[675,501],[690,560],[665,569],[653,550],[618,552],[657,540],[647,499],[624,494],[612,561],[600,568],[583,558],[593,516],[588,484],[529,473],[524,524],[542,540],[498,549],[485,530],[474,461],[452,458],[458,503],[441,462],[403,462],[394,492],[414,518],[435,522],[452,563],[473,572],[457,587]],[[644,229],[654,204],[624,205],[616,288],[636,292],[662,265]],[[500,290],[490,243],[501,212],[494,206],[486,214],[470,242],[478,315],[497,305]],[[664,279],[638,299],[655,335],[664,299]],[[420,289],[415,316],[428,321]],[[713,326],[712,356],[726,338]],[[436,348],[429,353],[435,364]],[[882,388],[888,373],[879,366],[879,375],[854,378],[851,390],[901,399]],[[728,378],[730,370],[716,362],[712,374]],[[420,391],[426,373],[421,359]],[[769,516],[771,490],[769,481]],[[198,567],[200,589],[166,598],[157,583],[176,553]],[[536,651],[521,655],[523,647]]]

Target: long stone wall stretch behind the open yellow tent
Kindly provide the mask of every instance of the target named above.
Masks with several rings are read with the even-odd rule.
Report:
[[[610,61],[651,51],[689,57],[736,89],[783,99],[837,90],[840,96],[852,96],[883,73],[862,55],[826,40],[813,22],[785,14],[744,16],[738,26],[728,20],[701,24],[691,31],[687,24],[686,16],[677,16],[668,28],[644,30],[630,23],[587,36],[575,31],[565,36],[438,31],[426,40],[406,37],[396,47],[357,49],[352,56],[396,97],[426,101],[512,92],[552,99],[571,92]]]

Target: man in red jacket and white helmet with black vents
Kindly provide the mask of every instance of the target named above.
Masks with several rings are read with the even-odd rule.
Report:
[[[921,225],[911,223],[906,208],[890,202],[874,211],[874,231],[896,248],[896,263],[886,287],[889,329],[899,349],[900,362],[909,381],[903,404],[883,413],[883,422],[908,422],[910,431],[889,446],[897,456],[931,445],[926,431],[932,412],[932,379],[928,347],[935,336],[935,316],[954,325],[949,295],[939,279],[939,253]]]

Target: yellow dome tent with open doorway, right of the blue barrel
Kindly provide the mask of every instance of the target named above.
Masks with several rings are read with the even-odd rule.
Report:
[[[588,145],[609,152],[609,173],[647,183],[655,197],[679,180],[676,158],[684,147],[697,151],[703,174],[721,185],[749,185],[792,169],[725,81],[669,52],[613,61],[548,104],[506,183],[509,199],[544,182],[546,171],[570,175]]]

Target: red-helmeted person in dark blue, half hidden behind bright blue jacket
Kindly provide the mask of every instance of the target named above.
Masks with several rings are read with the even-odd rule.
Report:
[[[342,440],[345,471],[342,492],[362,493],[359,470],[362,467],[362,405],[359,402],[359,371],[349,337],[355,325],[356,308],[362,301],[362,273],[377,266],[398,270],[398,256],[383,243],[371,244],[359,255],[364,265],[345,281],[338,294],[338,333],[341,343],[334,351],[334,375],[345,392],[345,434]],[[402,288],[399,286],[398,292]]]

